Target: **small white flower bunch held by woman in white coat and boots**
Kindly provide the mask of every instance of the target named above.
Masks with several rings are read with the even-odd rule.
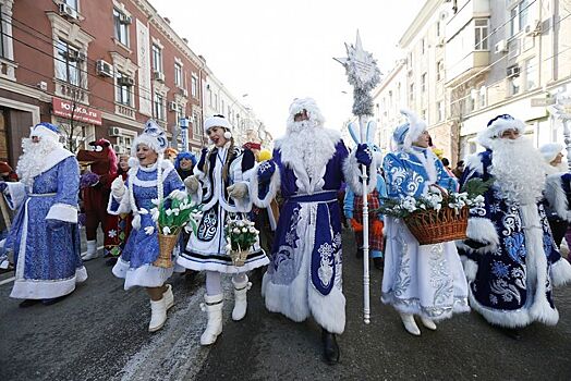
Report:
[[[246,219],[228,219],[226,231],[226,249],[232,258],[234,266],[244,266],[250,248],[257,239],[259,232],[254,228],[254,222]]]

